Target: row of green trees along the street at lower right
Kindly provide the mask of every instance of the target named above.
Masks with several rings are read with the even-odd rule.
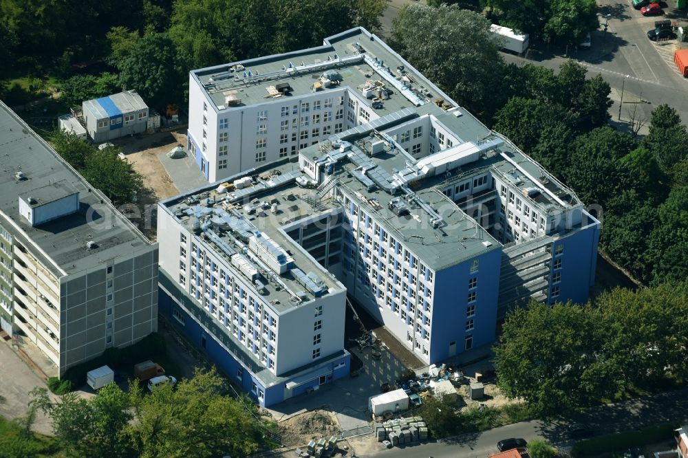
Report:
[[[688,376],[688,281],[594,305],[531,303],[504,323],[495,347],[499,386],[545,415],[614,400]]]

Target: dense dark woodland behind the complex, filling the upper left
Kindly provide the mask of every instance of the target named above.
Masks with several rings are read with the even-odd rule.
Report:
[[[355,25],[376,31],[384,7],[384,0],[3,0],[0,58],[16,65],[0,67],[0,80],[67,79],[76,63],[106,61],[117,78],[94,77],[107,79],[99,90],[114,83],[158,109],[183,106],[191,69],[319,45]],[[65,87],[91,96],[96,88],[83,82]]]

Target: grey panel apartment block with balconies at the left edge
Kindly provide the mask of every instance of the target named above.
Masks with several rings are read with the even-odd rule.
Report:
[[[0,102],[0,327],[54,373],[158,328],[158,246]]]

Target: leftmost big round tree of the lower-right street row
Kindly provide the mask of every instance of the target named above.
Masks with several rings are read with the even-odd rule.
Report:
[[[531,302],[516,309],[494,348],[499,387],[541,415],[613,395],[616,379],[597,351],[599,318],[590,306]]]

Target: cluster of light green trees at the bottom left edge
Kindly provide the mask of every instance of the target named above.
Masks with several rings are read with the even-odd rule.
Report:
[[[197,372],[153,393],[109,384],[88,400],[35,389],[32,406],[50,417],[69,457],[246,457],[264,444],[256,406],[225,389],[215,371]]]

